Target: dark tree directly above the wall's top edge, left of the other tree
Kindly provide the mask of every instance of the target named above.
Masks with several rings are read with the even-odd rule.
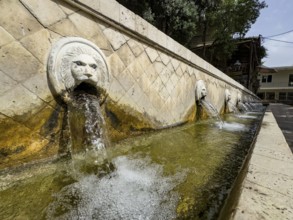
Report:
[[[118,0],[118,2],[185,46],[196,33],[197,7],[192,0]]]

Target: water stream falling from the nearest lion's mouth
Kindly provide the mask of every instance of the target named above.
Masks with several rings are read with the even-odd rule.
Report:
[[[69,148],[74,170],[103,175],[110,171],[109,140],[97,96],[77,91],[68,103],[71,138]]]

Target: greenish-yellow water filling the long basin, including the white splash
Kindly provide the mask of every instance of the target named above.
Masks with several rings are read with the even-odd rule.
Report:
[[[224,116],[129,138],[115,170],[76,175],[71,160],[0,176],[1,219],[215,219],[261,115]]]

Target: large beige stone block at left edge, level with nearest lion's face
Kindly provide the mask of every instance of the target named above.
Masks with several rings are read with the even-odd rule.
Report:
[[[0,70],[18,82],[36,74],[41,65],[18,42],[13,42],[0,48],[0,57]]]

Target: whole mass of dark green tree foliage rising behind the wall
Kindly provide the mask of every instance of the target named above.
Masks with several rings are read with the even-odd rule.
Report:
[[[232,39],[242,38],[266,7],[260,0],[118,0],[161,31],[192,49],[202,44],[201,55],[212,62],[231,56]],[[213,49],[206,53],[206,44]],[[208,55],[208,56],[207,56]]]

